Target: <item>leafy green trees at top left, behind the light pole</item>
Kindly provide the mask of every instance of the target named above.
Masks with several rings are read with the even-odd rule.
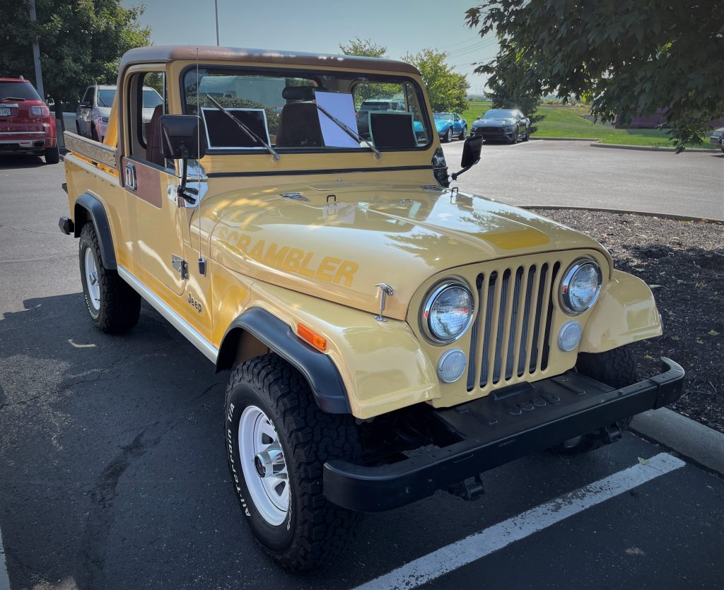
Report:
[[[71,108],[90,84],[115,84],[120,57],[151,44],[140,25],[145,7],[121,0],[36,0],[37,22],[28,3],[0,0],[0,72],[35,82],[32,39],[38,38],[47,95]]]

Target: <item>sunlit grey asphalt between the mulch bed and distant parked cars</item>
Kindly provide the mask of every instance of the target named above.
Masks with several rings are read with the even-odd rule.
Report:
[[[463,142],[443,144],[450,172]],[[460,190],[517,206],[613,208],[724,220],[724,153],[593,147],[589,141],[483,143]]]

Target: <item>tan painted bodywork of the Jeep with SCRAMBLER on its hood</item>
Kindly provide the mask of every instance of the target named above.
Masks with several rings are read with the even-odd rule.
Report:
[[[397,72],[421,83],[416,70],[389,60],[202,49],[204,65]],[[164,71],[169,112],[180,114],[178,80],[183,69],[195,63],[189,51],[133,50],[122,59],[119,86],[132,72]],[[167,184],[178,182],[173,174],[161,174],[158,198],[146,194],[144,200],[124,189],[122,170],[107,166],[106,153],[111,149],[118,165],[129,153],[124,111],[122,101],[114,104],[111,121],[118,122],[117,145],[104,149],[103,161],[93,161],[93,146],[83,142],[74,144],[77,154],[67,156],[71,215],[81,194],[99,198],[109,217],[118,264],[211,347],[218,349],[227,327],[252,306],[273,313],[292,329],[302,322],[321,334],[358,418],[421,402],[455,405],[508,384],[571,368],[578,351],[563,353],[555,347],[560,326],[572,319],[561,308],[557,290],[565,266],[580,257],[599,263],[604,285],[596,305],[575,316],[583,328],[578,350],[601,352],[661,333],[649,287],[613,270],[613,261],[599,243],[528,211],[475,195],[425,188],[435,184],[430,163],[439,146],[436,134],[429,148],[385,152],[379,160],[372,153],[283,154],[277,162],[268,154],[206,156],[201,165],[209,174],[208,193],[201,208],[177,208],[166,193]],[[142,174],[148,182],[159,182],[151,176]],[[303,200],[284,193],[302,193]],[[158,269],[170,267],[170,261],[149,250],[151,241],[144,240],[148,224],[139,219],[148,208],[168,222],[154,225],[152,243],[167,244],[164,251],[177,252],[189,263],[190,277],[180,295],[169,287],[169,277],[158,276]],[[199,251],[208,260],[206,276],[195,271]],[[144,258],[153,264],[144,264]],[[435,368],[440,355],[458,347],[469,356],[473,334],[468,329],[447,346],[426,340],[419,310],[429,289],[440,279],[459,277],[471,286],[480,309],[487,304],[487,295],[476,290],[480,277],[523,267],[532,274],[544,264],[560,266],[556,279],[544,285],[553,294],[547,366],[543,368],[539,360],[532,371],[515,372],[497,384],[475,383],[469,390],[465,376],[453,384],[442,383]],[[386,322],[374,319],[379,312],[375,285],[380,282],[395,290],[387,299]],[[496,313],[510,316],[511,305],[500,305]],[[515,350],[530,347],[520,326],[510,340]],[[476,353],[476,358],[468,358],[476,376],[485,362],[478,357]]]

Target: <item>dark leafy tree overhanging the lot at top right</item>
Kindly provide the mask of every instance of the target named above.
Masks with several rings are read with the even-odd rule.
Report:
[[[665,107],[677,151],[724,113],[721,0],[489,0],[466,22],[515,44],[544,93],[589,95],[598,119]]]

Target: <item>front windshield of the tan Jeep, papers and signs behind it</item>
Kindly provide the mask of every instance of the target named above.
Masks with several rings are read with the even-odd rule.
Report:
[[[416,149],[432,138],[422,90],[405,77],[201,67],[197,79],[193,67],[183,89],[186,114],[201,106],[211,153],[265,148],[219,117],[209,97],[279,153]]]

